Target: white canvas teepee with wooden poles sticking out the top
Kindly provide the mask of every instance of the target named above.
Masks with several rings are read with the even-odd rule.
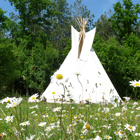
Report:
[[[113,103],[119,94],[92,48],[96,28],[85,33],[87,20],[77,20],[80,32],[71,26],[72,47],[43,93],[47,102]],[[57,79],[58,74],[63,79]]]

